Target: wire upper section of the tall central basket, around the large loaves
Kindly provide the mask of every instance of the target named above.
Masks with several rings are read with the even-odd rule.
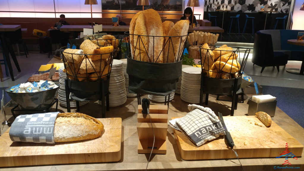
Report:
[[[145,36],[124,33],[128,57],[137,61],[152,63],[172,63],[182,60],[184,36]]]

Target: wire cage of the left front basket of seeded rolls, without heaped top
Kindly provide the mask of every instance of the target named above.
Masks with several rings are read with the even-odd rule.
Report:
[[[70,49],[71,46],[60,48],[67,79],[82,82],[109,79],[115,49],[104,54],[81,54],[79,53],[79,51],[82,51],[80,45],[74,46],[76,49]],[[94,60],[92,60],[93,57]]]

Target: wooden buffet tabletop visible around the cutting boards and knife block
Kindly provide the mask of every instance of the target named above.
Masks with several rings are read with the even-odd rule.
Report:
[[[142,96],[147,97],[147,96]],[[250,95],[245,95],[244,103],[238,103],[237,110],[234,112],[234,116],[245,116],[247,114],[248,105],[247,101]],[[163,104],[163,103],[151,103],[151,104]],[[168,119],[171,117],[182,117],[188,113],[187,102],[181,100],[180,95],[175,95],[174,99],[169,103]],[[208,106],[215,113],[221,112],[224,116],[230,115],[231,102],[217,101],[216,96],[209,96]],[[6,113],[10,113],[9,107]],[[54,108],[53,108],[54,110]],[[90,102],[84,106],[80,106],[80,112],[97,117],[100,113],[101,107],[98,102]],[[66,108],[61,106],[58,107],[58,111],[66,112]],[[72,109],[71,112],[75,112],[76,109]],[[121,160],[118,162],[104,162],[104,163],[79,163],[79,164],[60,164],[60,165],[46,165],[46,166],[22,166],[22,167],[11,167],[1,168],[2,171],[31,171],[31,170],[44,170],[44,171],[55,171],[55,170],[145,170],[147,166],[148,154],[138,154],[138,135],[136,129],[137,123],[137,111],[138,104],[137,98],[128,98],[126,103],[121,106],[111,107],[106,112],[106,117],[121,117],[122,118],[122,146],[121,146]],[[11,115],[7,116],[10,121],[13,121]],[[0,119],[3,119],[1,117]],[[282,129],[288,132],[292,137],[298,140],[302,145],[304,144],[304,129],[299,126],[294,120],[286,115],[282,110],[276,107],[275,116],[272,120],[278,124]],[[2,121],[1,121],[2,122]],[[232,135],[233,137],[233,135]],[[266,141],[268,140],[265,137]],[[286,140],[287,141],[287,140]],[[252,151],[255,153],[255,151]],[[280,154],[278,154],[279,156]],[[302,152],[304,156],[304,152]],[[247,170],[273,170],[274,166],[286,166],[282,165],[285,158],[245,158],[240,159],[244,169]],[[297,160],[289,158],[289,162],[292,163],[293,167],[304,168],[304,158],[298,157]],[[287,165],[290,166],[290,165]],[[186,169],[185,169],[186,168]],[[152,155],[151,161],[148,165],[148,170],[242,170],[240,163],[237,159],[212,159],[212,160],[183,160],[178,151],[178,146],[174,138],[171,127],[168,127],[167,133],[167,153],[164,155]],[[298,170],[301,170],[298,169]]]

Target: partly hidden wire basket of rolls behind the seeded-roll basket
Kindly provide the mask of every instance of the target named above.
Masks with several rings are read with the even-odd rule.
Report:
[[[100,34],[96,33],[87,37],[87,39],[91,40],[93,43],[97,44],[99,47],[104,46],[113,46],[115,49],[115,53],[113,53],[114,59],[121,58],[121,42],[123,40],[122,36],[119,35],[109,35],[109,34]]]

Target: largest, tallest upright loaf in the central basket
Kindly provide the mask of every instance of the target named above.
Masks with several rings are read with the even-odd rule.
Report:
[[[129,28],[133,59],[146,62],[163,62],[163,26],[161,17],[154,9],[136,13]],[[142,36],[137,36],[142,35]],[[160,36],[160,37],[153,37]]]

